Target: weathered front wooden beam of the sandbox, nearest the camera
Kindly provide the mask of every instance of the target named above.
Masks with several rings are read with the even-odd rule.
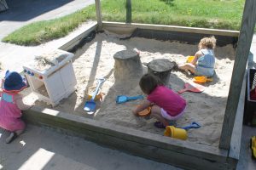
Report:
[[[140,144],[154,145],[157,148],[172,150],[177,153],[191,156],[199,156],[203,159],[212,161],[224,162],[228,156],[228,150],[221,150],[218,149],[218,147],[171,139],[154,133],[146,133],[136,129],[121,127],[107,122],[99,122],[89,118],[38,106],[34,106],[31,110],[25,111],[25,118],[29,122],[42,122],[43,124],[49,124],[50,126],[55,126],[56,124],[62,126],[61,124],[66,123],[68,126],[63,128],[68,129],[71,128],[71,126],[75,126],[73,127],[73,130],[76,131],[75,128],[83,127],[93,133],[101,133]]]

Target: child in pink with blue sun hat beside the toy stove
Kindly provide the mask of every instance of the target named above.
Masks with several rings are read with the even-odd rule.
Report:
[[[26,81],[19,73],[6,71],[0,87],[0,127],[10,132],[5,140],[9,144],[25,129],[25,123],[20,118],[20,110],[29,109],[32,105],[25,105],[22,95],[19,94],[26,88]]]

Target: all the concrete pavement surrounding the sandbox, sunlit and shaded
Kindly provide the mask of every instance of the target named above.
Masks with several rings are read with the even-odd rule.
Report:
[[[49,20],[84,8],[94,0],[8,0],[9,10],[0,13],[0,39],[36,20]],[[22,64],[35,54],[60,47],[90,26],[85,23],[67,37],[37,47],[21,47],[0,42],[0,61],[11,71],[22,71]],[[256,36],[251,52],[256,56]],[[0,130],[0,169],[177,169],[166,164],[127,155],[104,148],[84,139],[55,132],[45,127],[28,126],[26,133],[12,144],[5,144],[8,135]],[[249,138],[256,135],[253,127],[243,127],[241,141],[241,169],[256,169],[248,147]]]

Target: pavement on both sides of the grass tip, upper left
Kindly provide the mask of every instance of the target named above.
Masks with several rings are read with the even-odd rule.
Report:
[[[94,0],[7,0],[9,9],[0,13],[0,40],[12,31],[29,23],[72,14],[94,2]],[[35,47],[24,47],[0,42],[0,61],[3,64],[3,69],[22,71],[23,69],[20,63],[24,64],[33,59],[37,54],[61,47],[64,42],[68,42],[83,32],[87,25],[88,23],[85,23],[67,37]]]

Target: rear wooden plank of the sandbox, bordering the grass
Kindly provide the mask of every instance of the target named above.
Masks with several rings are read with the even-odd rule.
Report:
[[[103,28],[117,27],[120,30],[122,28],[130,28],[135,30],[136,28],[148,29],[148,30],[160,30],[160,31],[181,31],[189,33],[199,34],[212,34],[227,37],[238,37],[239,31],[219,30],[219,29],[208,29],[208,28],[197,28],[197,27],[186,27],[186,26],[166,26],[166,25],[151,25],[151,24],[138,24],[138,23],[124,23],[124,22],[108,22],[103,21]]]

